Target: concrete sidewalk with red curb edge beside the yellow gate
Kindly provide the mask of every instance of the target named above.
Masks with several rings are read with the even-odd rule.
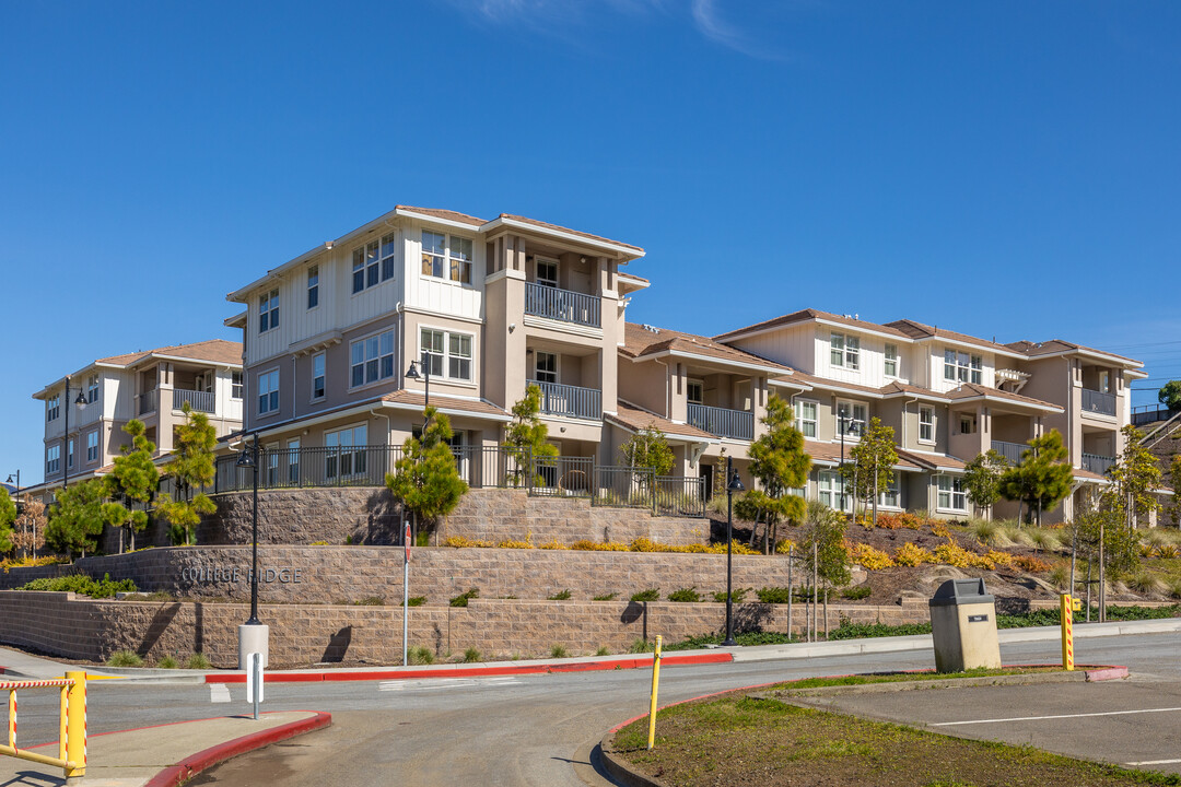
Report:
[[[332,716],[314,710],[223,716],[92,735],[85,787],[175,787],[197,773],[246,752],[321,729]],[[57,756],[57,742],[30,750]],[[0,786],[57,787],[60,769],[0,756]]]

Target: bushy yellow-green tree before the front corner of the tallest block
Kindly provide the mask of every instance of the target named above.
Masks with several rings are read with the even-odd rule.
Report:
[[[468,492],[468,484],[459,478],[455,454],[448,445],[451,422],[433,407],[428,407],[423,414],[426,426],[422,437],[406,439],[393,472],[385,477],[390,492],[413,514],[416,538],[419,523],[433,523],[451,513]]]

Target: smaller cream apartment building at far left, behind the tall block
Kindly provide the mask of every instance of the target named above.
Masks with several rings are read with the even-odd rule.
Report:
[[[123,426],[132,418],[144,422],[158,455],[172,451],[185,404],[205,413],[218,437],[241,429],[242,346],[215,339],[100,358],[33,399],[45,402],[45,480],[33,488],[50,491],[66,477],[107,472],[131,442]]]

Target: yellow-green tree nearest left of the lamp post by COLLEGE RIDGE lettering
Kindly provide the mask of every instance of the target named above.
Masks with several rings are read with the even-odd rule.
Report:
[[[156,511],[172,525],[172,542],[193,543],[193,531],[201,524],[202,514],[217,511],[204,492],[193,494],[214,483],[214,446],[217,432],[209,424],[209,417],[195,412],[184,402],[184,422],[176,427],[172,460],[164,465],[164,473],[176,481],[175,500],[162,500]]]

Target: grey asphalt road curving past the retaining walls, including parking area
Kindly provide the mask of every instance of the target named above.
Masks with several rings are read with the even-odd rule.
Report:
[[[996,737],[1114,762],[1181,758],[1181,635],[1079,641],[1079,663],[1127,664],[1133,680],[866,695],[850,710],[909,722],[976,722],[944,732]],[[1003,645],[1006,663],[1053,662],[1057,643]],[[929,650],[661,670],[660,702],[729,688],[814,675],[932,665]],[[435,678],[359,683],[269,684],[266,709],[333,714],[332,728],[242,756],[194,780],[223,787],[357,787],[611,783],[590,765],[594,746],[613,724],[647,710],[651,673],[621,670],[478,680]],[[35,695],[32,695],[35,696]],[[229,699],[228,702],[224,700]],[[843,707],[843,706],[842,706]],[[1163,709],[1163,710],[1162,710]],[[1172,710],[1169,710],[1172,709]],[[244,713],[241,686],[93,684],[91,732]],[[1113,716],[1078,716],[1122,710]],[[1143,713],[1155,710],[1155,713]],[[56,708],[21,704],[21,739],[56,736]],[[1029,716],[1069,719],[1025,719]],[[1022,721],[979,723],[991,719]],[[162,735],[168,728],[162,728]],[[26,737],[28,735],[28,737]],[[1115,741],[1107,749],[1102,741]],[[1151,766],[1181,772],[1181,763]]]

